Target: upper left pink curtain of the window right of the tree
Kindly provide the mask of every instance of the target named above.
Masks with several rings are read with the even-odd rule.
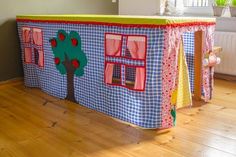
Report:
[[[121,55],[121,40],[106,39],[106,55],[120,56]]]

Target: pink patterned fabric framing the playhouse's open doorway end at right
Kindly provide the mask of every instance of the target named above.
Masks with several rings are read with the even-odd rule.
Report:
[[[178,81],[177,72],[177,56],[179,50],[179,43],[184,32],[204,31],[205,44],[203,54],[211,51],[214,45],[214,29],[215,26],[189,26],[166,28],[164,37],[164,55],[163,55],[163,71],[162,71],[162,128],[170,128],[173,126],[173,117],[171,116],[171,93],[176,89]],[[205,101],[211,98],[213,72],[214,68],[202,68],[203,71],[203,91]]]

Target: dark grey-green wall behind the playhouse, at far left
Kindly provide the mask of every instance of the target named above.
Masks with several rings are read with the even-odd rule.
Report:
[[[118,13],[111,0],[0,0],[0,4],[0,81],[23,75],[16,15]]]

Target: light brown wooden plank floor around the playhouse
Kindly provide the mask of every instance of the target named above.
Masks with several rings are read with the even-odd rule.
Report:
[[[22,82],[0,84],[0,157],[236,156],[236,83],[211,103],[178,111],[177,127],[142,130]]]

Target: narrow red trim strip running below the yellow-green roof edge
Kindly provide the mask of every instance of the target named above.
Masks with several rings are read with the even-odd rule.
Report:
[[[120,23],[107,23],[107,22],[82,22],[82,21],[65,21],[65,20],[32,20],[32,19],[16,19],[17,22],[37,22],[37,23],[64,23],[64,24],[91,24],[91,25],[106,25],[106,26],[120,26],[120,27],[146,27],[146,28],[165,28],[165,27],[186,27],[196,25],[215,25],[215,22],[188,22],[177,24],[120,24]]]

